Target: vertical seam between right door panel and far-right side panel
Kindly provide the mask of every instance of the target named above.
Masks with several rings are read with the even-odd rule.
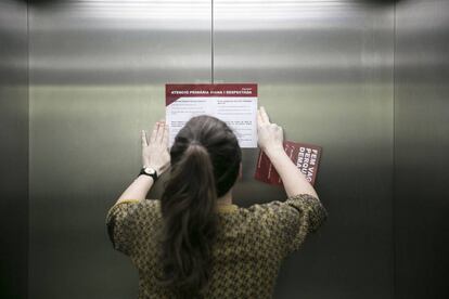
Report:
[[[397,294],[397,245],[396,245],[396,5],[393,1],[393,176],[392,176],[392,230],[393,230],[393,298]]]

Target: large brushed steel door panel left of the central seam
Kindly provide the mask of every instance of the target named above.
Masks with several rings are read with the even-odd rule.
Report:
[[[136,298],[105,216],[165,82],[210,79],[209,1],[33,1],[30,298]],[[157,190],[153,193],[157,196]]]

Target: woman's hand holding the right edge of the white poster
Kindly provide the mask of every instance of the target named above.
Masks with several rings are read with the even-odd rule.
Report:
[[[257,112],[257,133],[259,147],[267,154],[284,152],[284,133],[280,126],[271,123],[267,112],[260,107]]]

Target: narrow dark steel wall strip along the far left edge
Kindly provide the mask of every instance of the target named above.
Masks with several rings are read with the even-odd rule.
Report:
[[[26,3],[0,1],[0,298],[25,298],[28,243]]]

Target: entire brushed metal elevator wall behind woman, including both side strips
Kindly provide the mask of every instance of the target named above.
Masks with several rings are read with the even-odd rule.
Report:
[[[274,298],[449,295],[449,1],[1,0],[0,25],[1,298],[136,298],[104,220],[176,82],[258,83],[323,147],[329,219]],[[285,198],[257,154],[238,205]]]

